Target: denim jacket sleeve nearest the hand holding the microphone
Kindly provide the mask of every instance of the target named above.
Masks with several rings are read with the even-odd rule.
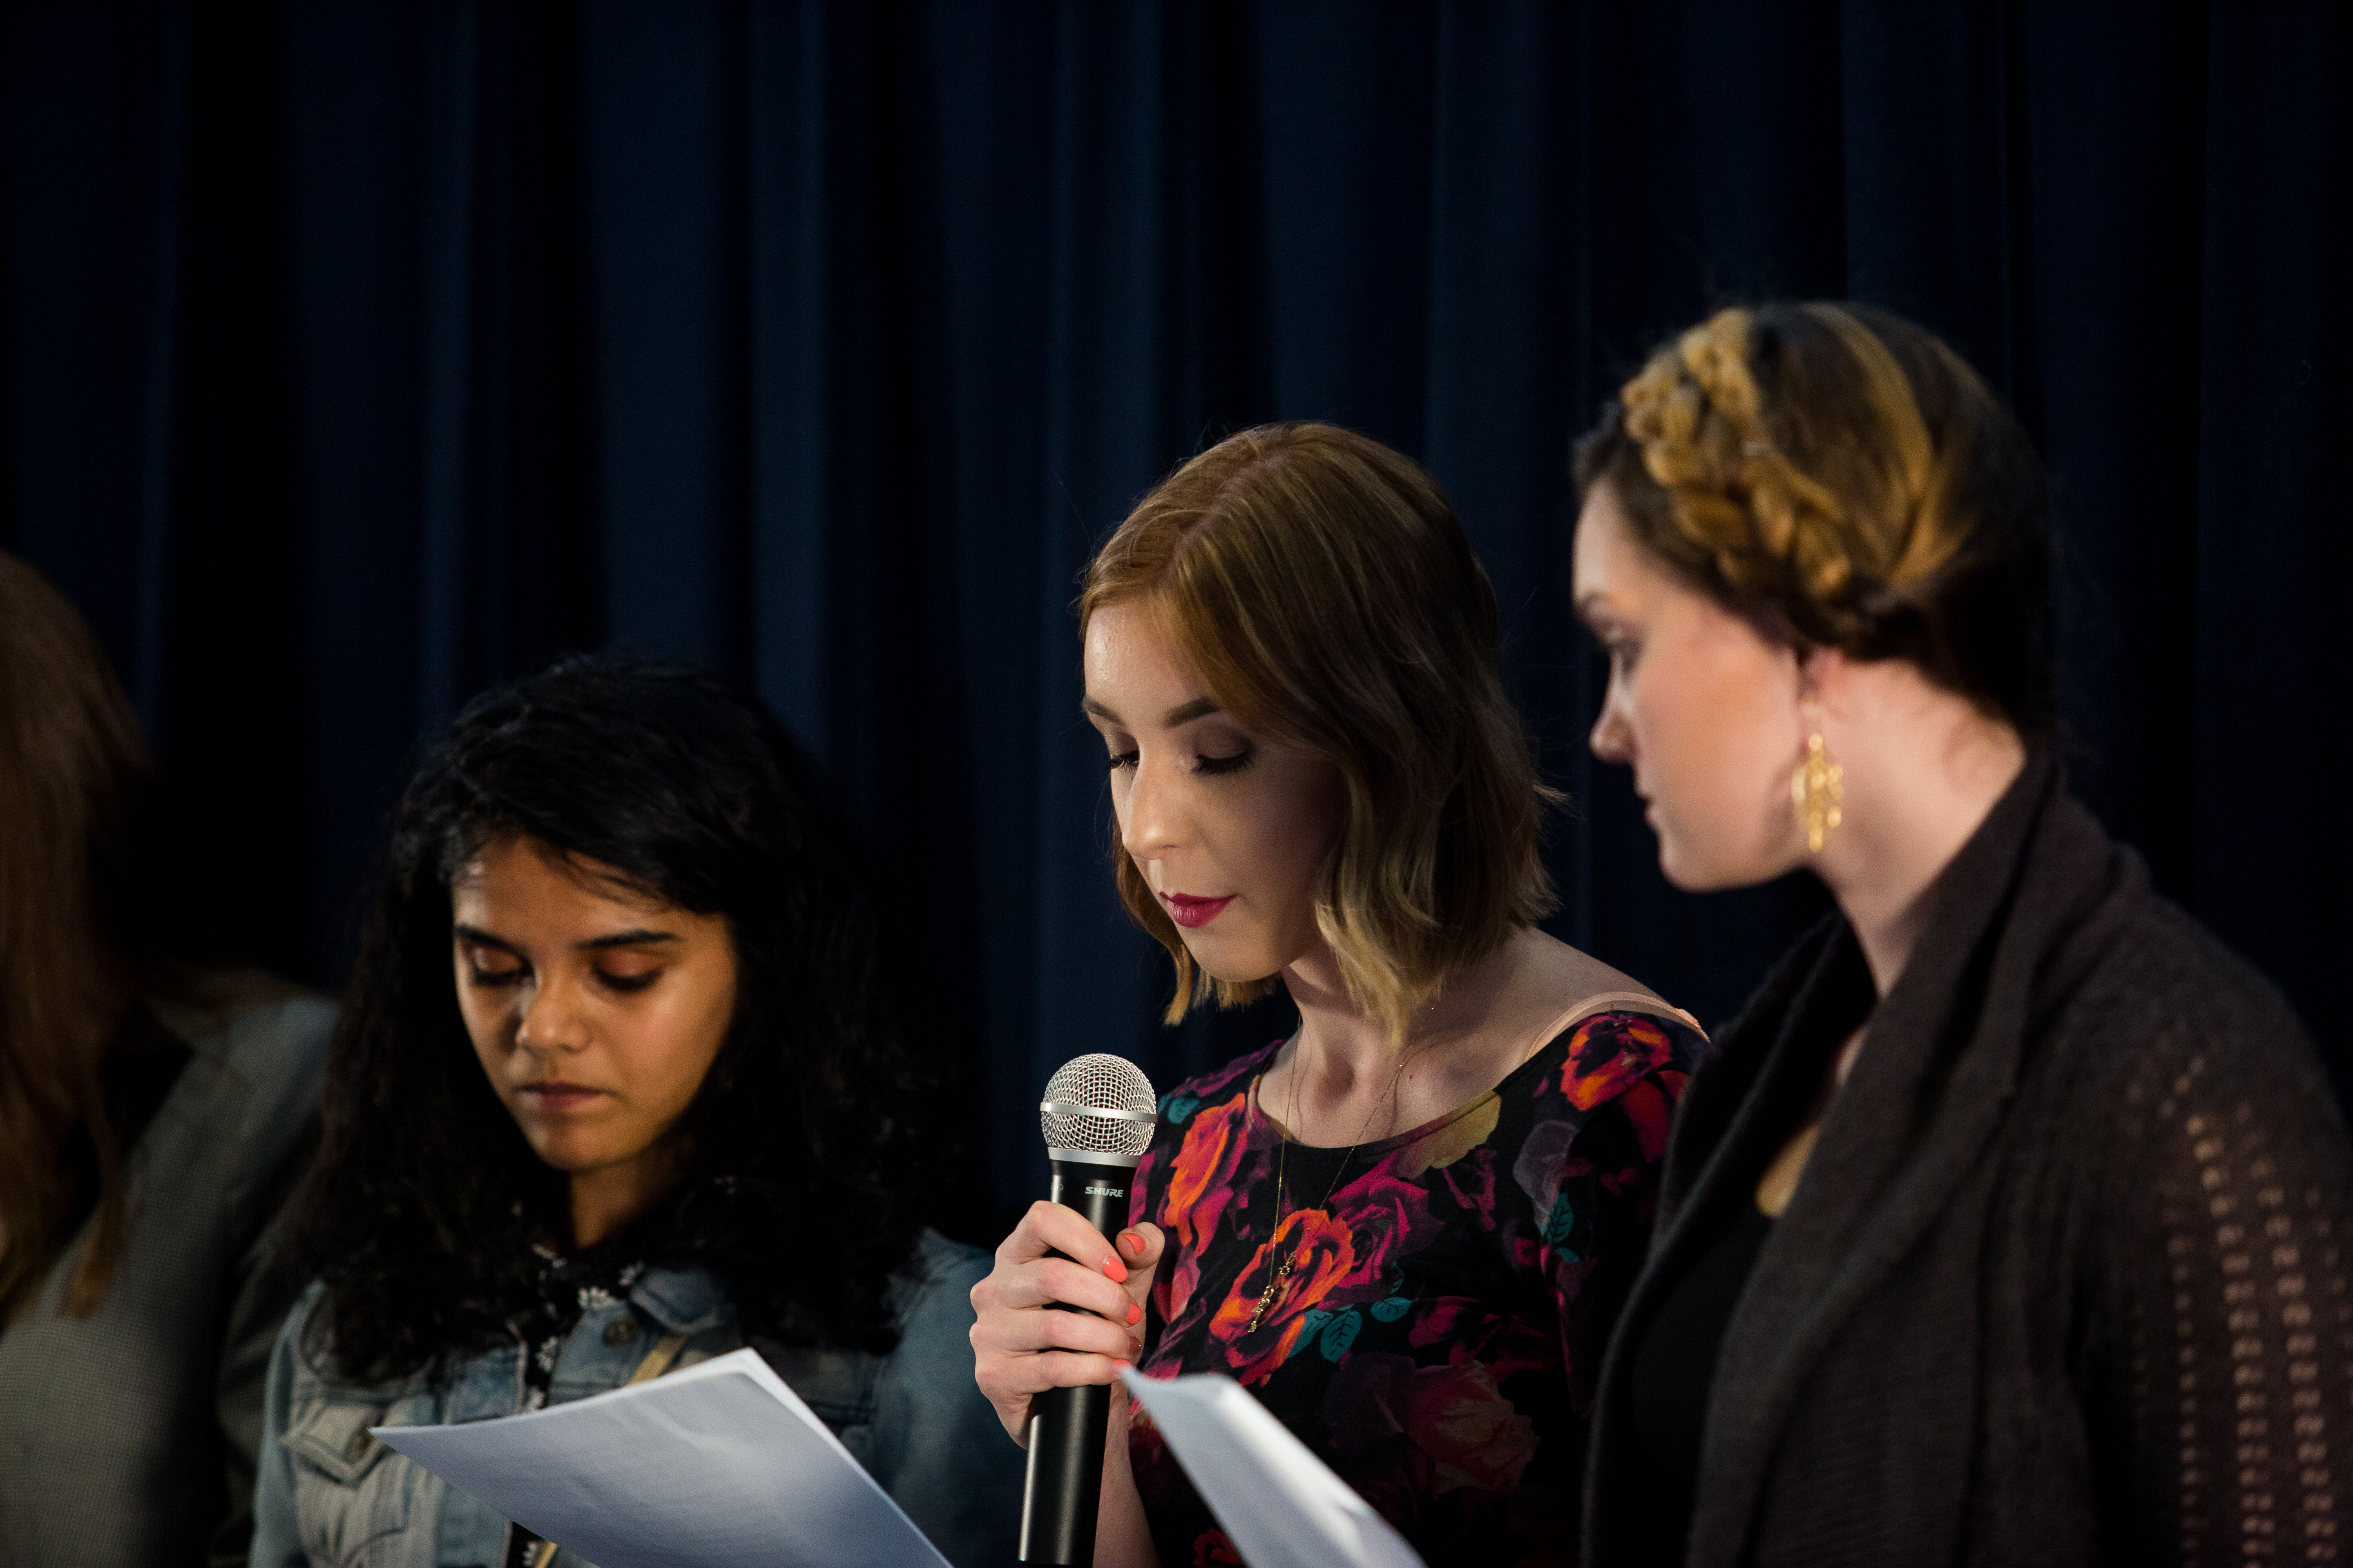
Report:
[[[972,1286],[988,1255],[925,1234],[915,1269],[875,1387],[875,1481],[958,1568],[1009,1563],[1026,1455],[972,1380]]]

